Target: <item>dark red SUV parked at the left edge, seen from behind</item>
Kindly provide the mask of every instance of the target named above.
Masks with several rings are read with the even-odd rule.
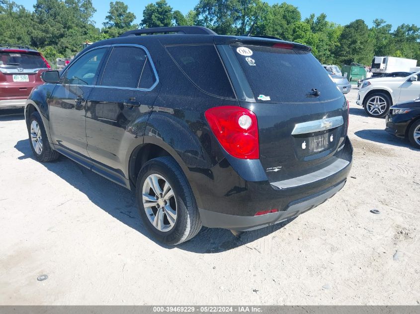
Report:
[[[50,64],[26,46],[0,44],[0,109],[23,108],[32,88],[42,84]]]

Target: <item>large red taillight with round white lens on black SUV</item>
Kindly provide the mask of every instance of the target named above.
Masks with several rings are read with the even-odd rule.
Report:
[[[237,106],[214,107],[205,112],[207,122],[222,147],[241,159],[258,159],[258,124],[255,114]]]

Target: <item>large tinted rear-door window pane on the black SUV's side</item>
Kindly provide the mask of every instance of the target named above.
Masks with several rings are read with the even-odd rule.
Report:
[[[114,47],[102,75],[102,86],[137,88],[146,52],[137,47]]]

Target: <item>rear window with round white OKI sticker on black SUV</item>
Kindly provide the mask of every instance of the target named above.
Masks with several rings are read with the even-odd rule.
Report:
[[[307,103],[342,96],[310,52],[265,46],[231,47],[258,102]],[[313,88],[321,93],[316,99],[311,94]]]

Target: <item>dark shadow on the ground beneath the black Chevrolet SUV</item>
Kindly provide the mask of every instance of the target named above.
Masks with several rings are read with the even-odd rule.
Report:
[[[29,145],[28,140],[20,140],[16,143],[14,148],[23,154],[23,156],[18,157],[19,160],[27,158],[35,160]],[[239,237],[235,237],[229,230],[203,227],[190,241],[176,247],[167,246],[157,242],[146,226],[143,225],[137,210],[136,197],[132,191],[101,177],[65,156],[60,156],[54,162],[42,163],[42,165],[74,188],[80,190],[91,202],[109,215],[140,232],[159,246],[167,249],[178,248],[195,253],[229,251],[240,246],[248,245],[261,237],[265,237],[281,229],[293,220],[291,219],[259,230],[245,232]],[[63,199],[63,204],[67,201]],[[258,251],[251,247],[249,249]]]

